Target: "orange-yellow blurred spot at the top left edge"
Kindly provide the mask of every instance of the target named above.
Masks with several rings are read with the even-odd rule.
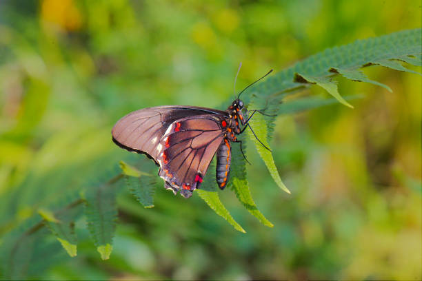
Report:
[[[44,0],[41,4],[41,18],[69,31],[79,30],[82,23],[81,13],[72,0]]]

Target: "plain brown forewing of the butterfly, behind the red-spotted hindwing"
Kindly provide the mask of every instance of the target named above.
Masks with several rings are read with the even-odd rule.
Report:
[[[121,118],[112,129],[114,143],[132,152],[146,154],[157,162],[157,145],[168,127],[186,116],[216,114],[225,116],[227,112],[205,107],[165,105],[149,107],[131,112]]]

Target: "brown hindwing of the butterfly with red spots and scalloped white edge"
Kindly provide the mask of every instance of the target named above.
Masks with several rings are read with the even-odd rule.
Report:
[[[166,188],[186,198],[199,188],[215,152],[223,141],[222,116],[189,116],[168,127],[157,147],[159,176]]]

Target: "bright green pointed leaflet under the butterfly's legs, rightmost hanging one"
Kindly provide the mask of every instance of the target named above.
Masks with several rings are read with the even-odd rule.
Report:
[[[248,131],[248,136],[254,142],[254,145],[257,148],[257,151],[259,155],[261,156],[262,160],[264,161],[265,166],[267,166],[268,171],[270,171],[270,175],[272,176],[274,181],[277,183],[277,185],[281,189],[283,189],[285,192],[290,194],[289,189],[285,187],[283,181],[281,181],[279,172],[277,171],[277,167],[275,166],[275,163],[274,163],[274,158],[272,158],[272,153],[270,152],[270,150],[263,147],[263,145],[265,145],[266,147],[270,147],[267,141],[268,132],[267,132],[267,125],[265,123],[265,119],[263,118],[261,114],[254,114],[254,117],[250,119],[249,123],[251,127],[253,128],[255,134],[257,135],[257,137],[254,136],[254,134],[252,133],[250,129],[246,129],[246,131]],[[259,143],[257,138],[259,138],[259,140],[263,143],[263,145]]]

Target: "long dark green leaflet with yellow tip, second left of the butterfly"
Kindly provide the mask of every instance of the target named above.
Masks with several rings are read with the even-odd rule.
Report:
[[[112,179],[108,183],[90,187],[86,191],[85,215],[88,229],[103,259],[110,256],[112,238],[116,229],[117,190],[112,185],[114,181]]]

